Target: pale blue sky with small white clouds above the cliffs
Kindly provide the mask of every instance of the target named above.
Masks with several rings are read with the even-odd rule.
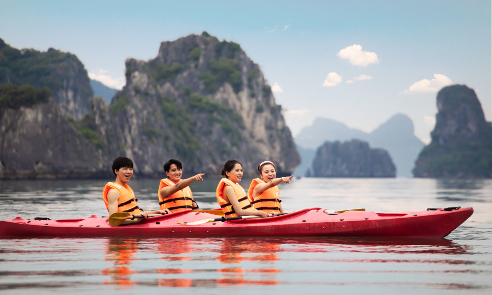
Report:
[[[370,132],[402,113],[428,142],[436,91],[450,83],[475,89],[492,120],[491,10],[490,0],[0,0],[0,37],[71,52],[121,87],[126,58],[206,30],[260,65],[294,135],[316,117]]]

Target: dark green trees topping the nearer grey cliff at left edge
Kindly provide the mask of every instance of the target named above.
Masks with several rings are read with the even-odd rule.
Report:
[[[51,90],[47,87],[36,89],[27,84],[22,86],[2,84],[0,85],[0,108],[31,107],[36,103],[47,102],[50,94]]]

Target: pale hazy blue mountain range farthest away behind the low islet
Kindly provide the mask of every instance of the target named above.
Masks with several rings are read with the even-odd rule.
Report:
[[[425,146],[414,135],[412,120],[402,114],[391,117],[371,133],[349,128],[332,119],[316,118],[313,124],[305,127],[294,140],[296,145],[302,148],[316,149],[325,141],[352,139],[367,141],[372,148],[386,149],[396,165],[399,177],[412,177],[415,160]],[[300,166],[311,165],[311,163],[305,163],[305,160],[309,161],[307,157],[302,158]]]

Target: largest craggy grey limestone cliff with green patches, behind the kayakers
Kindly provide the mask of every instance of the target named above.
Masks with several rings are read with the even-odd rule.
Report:
[[[231,158],[246,174],[265,159],[280,173],[300,162],[281,107],[239,44],[206,32],[162,42],[155,59],[127,59],[126,78],[110,114],[96,120],[118,139],[110,149],[132,157],[143,174],[162,171],[169,158],[212,175]]]

